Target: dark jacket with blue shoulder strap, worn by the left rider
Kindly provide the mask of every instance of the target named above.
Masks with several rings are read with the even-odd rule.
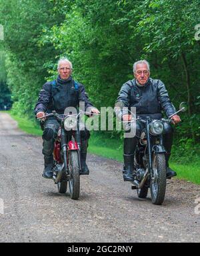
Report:
[[[55,110],[58,114],[63,114],[65,108],[77,108],[79,102],[85,102],[85,110],[93,107],[82,84],[75,82],[71,76],[67,80],[62,80],[58,76],[57,80],[43,85],[34,113],[51,113]]]

